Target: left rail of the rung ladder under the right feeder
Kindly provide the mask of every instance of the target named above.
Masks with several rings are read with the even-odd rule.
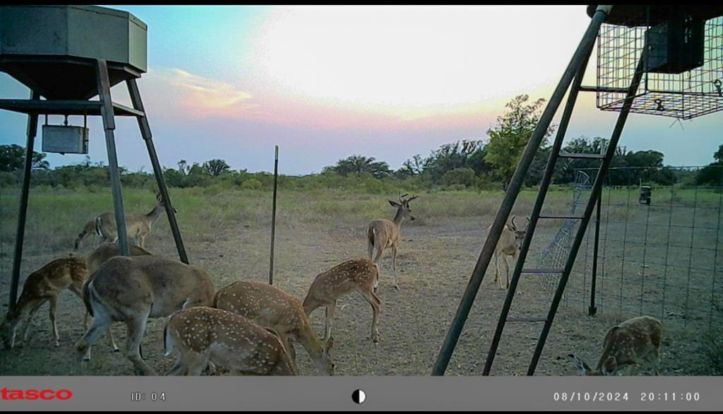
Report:
[[[547,166],[545,167],[544,176],[542,177],[542,182],[537,193],[537,198],[535,200],[534,207],[532,208],[532,213],[530,214],[530,222],[529,224],[527,224],[526,227],[526,235],[522,242],[517,262],[515,263],[515,270],[513,272],[512,280],[510,280],[510,287],[507,291],[507,296],[505,297],[505,303],[504,305],[502,305],[502,310],[500,311],[500,318],[497,321],[497,329],[495,329],[495,335],[492,337],[492,343],[489,346],[489,352],[487,352],[487,360],[484,363],[482,375],[489,375],[489,371],[492,368],[492,362],[495,360],[495,355],[497,355],[497,347],[498,345],[500,345],[502,331],[504,331],[505,324],[507,323],[507,317],[510,313],[510,307],[512,306],[515,292],[517,291],[517,284],[520,280],[522,268],[525,264],[527,253],[532,243],[532,237],[534,237],[534,232],[537,227],[537,220],[539,219],[539,214],[540,211],[542,211],[542,205],[544,204],[544,199],[547,195],[547,189],[549,188],[550,182],[552,182],[552,174],[555,174],[557,156],[560,154],[560,150],[562,149],[562,141],[565,140],[565,134],[568,132],[568,124],[570,124],[570,118],[573,116],[573,109],[575,109],[575,103],[578,99],[580,85],[583,81],[583,75],[585,75],[585,69],[590,59],[593,46],[594,43],[590,43],[588,49],[586,50],[586,54],[584,55],[580,67],[578,67],[577,69],[575,80],[573,80],[572,87],[570,88],[570,93],[568,94],[568,101],[567,103],[565,103],[565,109],[564,111],[562,111],[560,128],[557,130],[557,135],[555,135],[555,143],[553,143],[552,145],[552,150],[550,151],[549,159],[547,160]]]

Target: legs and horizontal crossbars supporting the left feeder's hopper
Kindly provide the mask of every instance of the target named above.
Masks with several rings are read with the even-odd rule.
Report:
[[[168,195],[168,188],[163,179],[163,170],[158,162],[158,155],[155,153],[153,138],[150,132],[150,125],[143,109],[140,91],[135,79],[127,80],[127,87],[133,103],[133,109],[116,104],[111,99],[111,82],[108,77],[108,64],[103,59],[95,61],[95,78],[98,86],[99,101],[74,101],[74,100],[40,100],[40,94],[32,91],[30,100],[21,99],[0,99],[0,109],[17,111],[27,114],[27,143],[25,145],[25,169],[22,175],[22,193],[20,196],[20,210],[17,221],[17,235],[15,237],[15,250],[12,262],[12,276],[10,281],[10,296],[8,309],[14,311],[17,302],[17,288],[20,281],[20,265],[22,263],[22,247],[25,241],[25,220],[27,218],[27,200],[30,191],[30,176],[33,166],[33,147],[35,136],[38,132],[38,116],[40,114],[87,114],[103,118],[103,130],[106,135],[106,148],[108,151],[108,172],[111,178],[111,190],[113,192],[114,214],[118,224],[118,242],[122,255],[130,255],[128,237],[125,225],[125,214],[123,211],[123,197],[121,193],[121,179],[116,155],[116,142],[114,130],[116,129],[115,117],[127,116],[136,117],[141,136],[145,140],[153,164],[153,172],[161,198],[166,204],[166,215],[171,225],[171,232],[174,235],[176,249],[179,258],[184,263],[189,263],[186,249],[184,248],[181,232],[179,231],[174,208],[171,205],[171,198]],[[116,111],[117,110],[117,111]]]

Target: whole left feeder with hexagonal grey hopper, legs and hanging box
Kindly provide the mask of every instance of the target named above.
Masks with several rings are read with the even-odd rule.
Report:
[[[128,12],[93,6],[1,6],[0,71],[30,88],[30,99],[0,99],[0,109],[27,114],[25,169],[17,224],[10,308],[17,297],[27,196],[38,117],[43,151],[87,153],[88,130],[67,125],[69,115],[103,119],[108,164],[121,253],[129,255],[121,181],[114,139],[115,117],[135,117],[145,140],[158,189],[166,204],[176,248],[188,263],[183,241],[163,181],[150,126],[136,83],[147,69],[147,25]],[[115,103],[111,87],[126,83],[132,108]],[[98,96],[98,99],[93,99]],[[41,99],[44,98],[44,99]],[[64,115],[63,125],[48,125],[48,115]]]

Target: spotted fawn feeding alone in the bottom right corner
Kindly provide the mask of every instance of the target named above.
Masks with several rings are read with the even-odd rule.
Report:
[[[631,375],[637,371],[638,362],[646,361],[658,375],[660,365],[660,339],[663,324],[652,316],[638,316],[607,331],[603,343],[602,355],[595,370],[579,358],[570,354],[580,373],[586,376],[614,375],[621,368]]]

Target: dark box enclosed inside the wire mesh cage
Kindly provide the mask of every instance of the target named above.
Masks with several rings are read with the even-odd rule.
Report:
[[[648,29],[645,71],[678,74],[703,66],[705,25],[703,20],[680,18]]]

